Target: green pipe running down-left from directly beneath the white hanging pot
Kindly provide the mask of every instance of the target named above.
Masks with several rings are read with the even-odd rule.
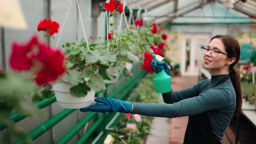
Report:
[[[49,130],[51,127],[53,127],[56,123],[59,123],[63,118],[67,117],[70,113],[74,112],[76,109],[65,109],[59,112],[54,117],[48,119],[43,124],[39,125],[38,127],[34,128],[30,131],[30,133],[27,134],[28,137],[30,137],[31,140],[37,139],[40,135],[45,133],[45,131]],[[14,143],[24,143],[22,141],[16,141]]]

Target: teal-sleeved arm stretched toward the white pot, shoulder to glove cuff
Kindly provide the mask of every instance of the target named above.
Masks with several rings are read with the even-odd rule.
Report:
[[[133,103],[131,113],[153,117],[183,117],[233,105],[233,102],[235,103],[234,100],[230,100],[229,92],[226,89],[213,88],[197,97],[187,98],[173,104]]]

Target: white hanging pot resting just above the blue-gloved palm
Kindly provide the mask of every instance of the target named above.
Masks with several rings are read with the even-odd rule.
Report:
[[[59,102],[61,107],[68,109],[80,109],[82,107],[90,106],[92,101],[94,101],[95,91],[88,91],[85,97],[77,98],[72,97],[69,88],[71,88],[71,86],[65,82],[55,83],[53,85],[56,100]]]

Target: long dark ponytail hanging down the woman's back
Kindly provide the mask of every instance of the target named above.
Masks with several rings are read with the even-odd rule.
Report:
[[[235,116],[238,116],[241,113],[241,107],[242,107],[242,94],[241,94],[240,79],[239,79],[239,76],[236,74],[236,71],[234,68],[231,68],[229,75],[230,75],[232,85],[236,92]]]

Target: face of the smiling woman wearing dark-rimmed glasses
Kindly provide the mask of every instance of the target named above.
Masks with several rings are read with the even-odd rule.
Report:
[[[209,49],[214,49],[226,53],[225,46],[218,38],[213,39],[207,46]],[[227,53],[226,53],[227,54]],[[203,55],[205,69],[212,70],[212,75],[228,74],[229,73],[229,58],[227,55],[219,53],[217,57],[211,56],[211,51]]]

